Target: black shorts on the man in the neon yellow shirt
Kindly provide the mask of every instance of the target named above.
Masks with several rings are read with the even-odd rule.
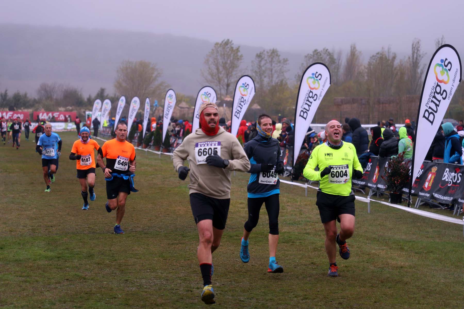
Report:
[[[322,223],[334,221],[340,214],[354,215],[354,194],[343,196],[317,191],[316,205]]]

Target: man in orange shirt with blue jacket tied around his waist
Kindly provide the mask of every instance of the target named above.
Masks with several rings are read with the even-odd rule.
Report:
[[[133,177],[135,172],[135,148],[126,141],[127,125],[125,122],[117,124],[116,138],[106,141],[102,146],[102,152],[98,152],[97,163],[103,169],[106,180],[106,211],[116,211],[115,234],[123,234],[121,220],[126,211],[126,199],[134,189]],[[106,157],[106,164],[103,163]]]

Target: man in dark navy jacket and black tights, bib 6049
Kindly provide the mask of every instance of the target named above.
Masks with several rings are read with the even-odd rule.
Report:
[[[284,268],[276,262],[277,243],[279,241],[279,178],[277,173],[284,171],[284,161],[280,158],[280,146],[277,139],[271,137],[272,120],[269,115],[261,114],[256,121],[258,135],[245,144],[244,150],[250,159],[251,173],[248,191],[248,221],[245,222],[240,249],[240,259],[247,263],[248,237],[258,224],[259,210],[263,203],[269,217],[269,267],[268,272],[283,272]]]

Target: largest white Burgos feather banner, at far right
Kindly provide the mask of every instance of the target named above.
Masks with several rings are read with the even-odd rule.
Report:
[[[417,176],[419,173],[427,149],[430,148],[451,98],[456,92],[459,82],[461,82],[461,70],[459,54],[449,44],[439,47],[433,54],[432,59],[430,59],[416,118],[417,124],[414,132],[416,141],[412,157],[412,175]],[[409,186],[412,186],[412,178]]]

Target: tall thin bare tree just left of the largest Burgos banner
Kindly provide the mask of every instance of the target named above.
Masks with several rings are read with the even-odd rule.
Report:
[[[411,55],[408,56],[406,61],[407,77],[408,77],[408,94],[417,95],[420,91],[420,85],[424,76],[425,64],[422,63],[425,53],[422,52],[420,40],[414,38],[411,44]]]

